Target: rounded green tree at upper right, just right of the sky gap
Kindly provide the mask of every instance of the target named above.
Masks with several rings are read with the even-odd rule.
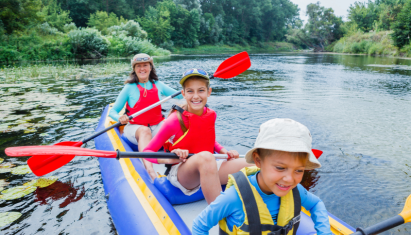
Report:
[[[378,5],[371,0],[367,3],[356,1],[348,9],[348,19],[355,22],[362,31],[368,32],[373,28],[374,21],[378,21],[377,8]]]

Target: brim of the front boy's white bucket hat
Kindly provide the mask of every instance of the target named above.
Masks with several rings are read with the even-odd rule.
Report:
[[[283,140],[284,141],[284,140]],[[288,142],[287,144],[284,144],[287,146],[287,149],[282,148],[281,143],[282,141],[275,141],[275,142],[269,142],[265,143],[263,145],[260,145],[258,147],[253,147],[250,150],[245,153],[245,160],[247,163],[254,163],[254,158],[252,157],[252,153],[257,149],[257,148],[264,148],[264,149],[272,149],[272,150],[280,150],[280,151],[288,151],[288,152],[307,152],[309,154],[307,165],[305,167],[306,170],[309,169],[315,169],[315,168],[320,168],[321,163],[318,161],[317,157],[315,157],[313,151],[311,149],[307,149],[305,147],[306,145],[304,143],[298,143],[298,141],[293,141],[293,147],[290,148],[291,142]],[[276,146],[276,147],[273,147]]]

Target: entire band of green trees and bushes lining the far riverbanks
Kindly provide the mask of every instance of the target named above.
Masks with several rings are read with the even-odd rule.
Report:
[[[355,2],[346,22],[317,2],[307,6],[305,25],[290,0],[0,3],[0,61],[160,55],[202,44],[263,49],[270,41],[369,54],[407,54],[411,48],[411,0]]]

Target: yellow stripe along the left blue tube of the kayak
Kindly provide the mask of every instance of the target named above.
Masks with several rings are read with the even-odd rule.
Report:
[[[112,104],[109,105],[109,110]],[[107,113],[108,113],[107,112]],[[105,120],[105,127],[110,125],[112,119],[108,116]],[[114,149],[125,151],[124,146],[121,143],[120,137],[117,135],[114,129],[107,131],[108,137],[113,144]],[[153,192],[146,185],[146,182],[141,178],[140,174],[135,170],[131,160],[129,158],[121,158],[118,160],[121,168],[124,172],[124,176],[127,182],[130,184],[135,196],[140,201],[147,215],[153,223],[159,234],[181,234],[173,220],[167,214],[166,210],[154,196]]]

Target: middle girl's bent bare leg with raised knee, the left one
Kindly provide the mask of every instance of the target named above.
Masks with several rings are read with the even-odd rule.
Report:
[[[208,204],[220,194],[221,184],[218,177],[217,163],[213,154],[202,151],[187,159],[179,166],[178,181],[187,189],[201,184],[204,197]]]

